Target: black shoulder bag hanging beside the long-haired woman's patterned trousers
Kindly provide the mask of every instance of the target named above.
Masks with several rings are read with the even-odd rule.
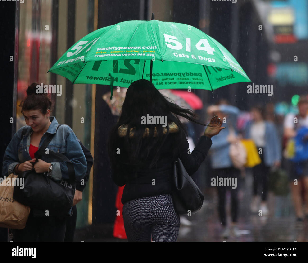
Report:
[[[181,161],[177,158],[173,169],[172,200],[174,209],[184,215],[190,210],[191,214],[197,213],[202,205],[204,195],[190,177]]]

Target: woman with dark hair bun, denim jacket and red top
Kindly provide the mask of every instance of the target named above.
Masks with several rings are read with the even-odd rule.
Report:
[[[27,126],[20,128],[6,148],[2,176],[11,173],[19,174],[31,170],[36,173],[47,172],[57,182],[69,179],[65,162],[52,160],[43,156],[32,166],[34,153],[43,144],[47,133],[54,134],[48,149],[65,155],[74,165],[76,180],[81,180],[87,171],[87,161],[73,130],[68,125],[61,125],[56,132],[58,122],[50,117],[51,100],[47,94],[37,94],[37,83],[27,89],[27,97],[21,103],[22,114]],[[25,128],[26,127],[26,128]],[[24,136],[21,138],[25,128]],[[63,241],[65,236],[66,217],[45,216],[45,211],[31,209],[24,229],[14,230],[14,241]]]

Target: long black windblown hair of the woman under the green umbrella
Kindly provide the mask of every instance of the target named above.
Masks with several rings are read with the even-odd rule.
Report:
[[[141,124],[142,116],[146,116],[147,114],[149,116],[167,116],[167,123],[174,122],[179,127],[179,132],[174,134],[177,142],[175,144],[177,147],[172,149],[174,156],[176,156],[176,152],[179,152],[180,138],[183,138],[183,135],[187,137],[187,131],[178,116],[207,126],[196,120],[198,116],[193,111],[183,109],[173,103],[168,97],[164,97],[150,81],[145,79],[134,81],[126,92],[120,118],[115,126],[111,128],[109,134],[107,147],[111,166],[115,165],[121,159],[121,154],[117,154],[119,153],[117,149],[123,146],[127,152],[128,160],[121,159],[121,163],[133,166],[142,165],[149,156],[149,153],[154,153],[150,168],[157,163],[160,157],[160,149],[169,134],[169,129],[167,125],[167,133],[164,134],[164,127],[162,125]],[[128,124],[126,136],[120,138],[118,128],[125,124]],[[146,127],[150,129],[149,136],[143,138]],[[155,127],[157,129],[157,136],[153,137]],[[133,137],[129,136],[131,128],[134,129]]]

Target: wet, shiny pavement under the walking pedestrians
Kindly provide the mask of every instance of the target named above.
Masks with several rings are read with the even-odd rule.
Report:
[[[221,238],[222,227],[218,219],[217,210],[217,191],[215,187],[207,188],[205,202],[201,210],[186,218],[192,222],[191,226],[181,224],[177,241],[206,241],[206,242],[303,242],[308,240],[308,219],[303,223],[296,223],[290,193],[286,196],[275,196],[269,192],[268,209],[269,215],[259,216],[258,213],[250,211],[252,198],[252,176],[246,175],[243,183],[239,187],[239,217],[238,229],[239,237],[230,236],[228,239]],[[226,197],[227,222],[230,224],[230,193]],[[84,234],[81,235],[83,231]],[[103,229],[92,230],[93,234],[85,230],[76,230],[75,241],[127,241],[112,237],[99,237],[96,234]],[[105,231],[105,230],[104,230]],[[106,232],[106,231],[105,231]],[[109,233],[108,233],[109,232]],[[105,233],[106,236],[112,235],[112,226]]]

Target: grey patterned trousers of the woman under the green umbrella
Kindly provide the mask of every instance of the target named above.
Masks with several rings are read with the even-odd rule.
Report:
[[[160,194],[137,198],[123,206],[124,228],[128,241],[176,242],[180,216],[172,196]]]

